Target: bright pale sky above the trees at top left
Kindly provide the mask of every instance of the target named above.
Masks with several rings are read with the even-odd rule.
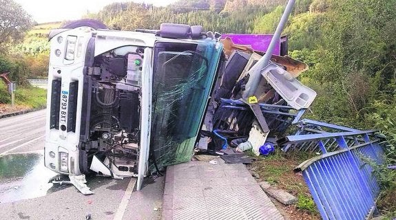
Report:
[[[32,16],[37,23],[81,19],[87,12],[98,12],[105,5],[117,2],[112,0],[14,0]],[[127,1],[127,0],[119,0]],[[152,3],[165,6],[176,0],[134,0],[138,3]]]

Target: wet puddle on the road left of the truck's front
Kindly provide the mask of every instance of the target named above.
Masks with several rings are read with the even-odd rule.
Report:
[[[39,153],[0,157],[0,203],[46,195],[52,187],[48,180],[55,175],[45,168],[44,157]]]

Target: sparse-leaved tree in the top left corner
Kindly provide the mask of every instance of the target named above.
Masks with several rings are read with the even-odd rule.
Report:
[[[0,52],[8,43],[19,41],[32,27],[30,15],[12,0],[0,0]]]

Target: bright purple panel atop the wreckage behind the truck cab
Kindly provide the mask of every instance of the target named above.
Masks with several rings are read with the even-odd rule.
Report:
[[[273,35],[272,34],[222,34],[221,39],[225,39],[226,36],[229,36],[229,38],[235,44],[251,45],[251,48],[253,48],[253,50],[266,52]],[[280,41],[276,43],[272,54],[280,55]]]

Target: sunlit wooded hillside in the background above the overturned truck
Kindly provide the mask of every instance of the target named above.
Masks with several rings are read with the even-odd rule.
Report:
[[[157,29],[160,23],[203,25],[206,30],[233,33],[253,32],[256,19],[285,0],[187,0],[167,7],[125,2],[112,3],[86,18],[103,21],[110,28]]]

